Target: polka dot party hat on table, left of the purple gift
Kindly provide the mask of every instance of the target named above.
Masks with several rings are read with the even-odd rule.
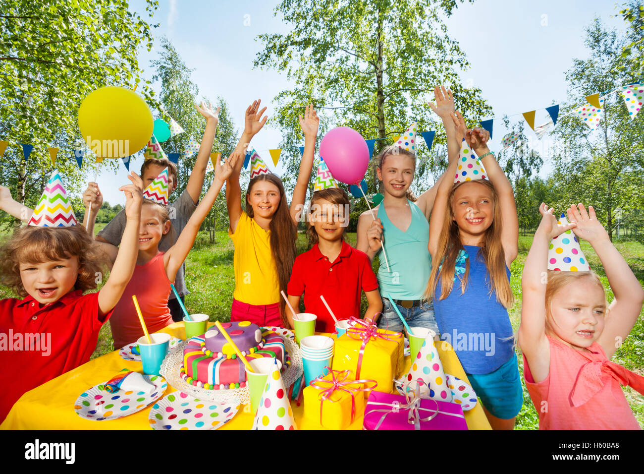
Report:
[[[290,409],[289,393],[279,374],[278,361],[272,373],[266,377],[266,385],[261,394],[260,404],[252,423],[253,430],[297,430],[293,411]]]

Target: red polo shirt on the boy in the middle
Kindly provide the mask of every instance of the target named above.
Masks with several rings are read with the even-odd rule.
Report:
[[[329,262],[317,244],[298,255],[290,274],[288,292],[292,296],[304,293],[307,313],[317,315],[316,331],[334,332],[335,322],[320,295],[327,300],[337,319],[360,317],[360,291],[377,290],[378,281],[366,253],[342,242],[340,255]]]

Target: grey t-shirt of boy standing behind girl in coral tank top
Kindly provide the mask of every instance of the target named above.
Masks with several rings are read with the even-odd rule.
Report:
[[[176,239],[179,238],[179,234],[184,230],[185,224],[187,224],[190,216],[193,215],[194,210],[197,208],[196,204],[193,202],[193,198],[190,197],[190,194],[187,191],[184,191],[182,195],[179,196],[175,202],[172,202],[169,205],[170,208],[174,208],[175,212],[172,209],[169,210],[170,221],[172,222],[173,228],[175,228],[174,239],[169,237],[169,233],[161,236],[159,241],[159,251],[167,252],[167,250],[173,246],[176,242]],[[126,215],[125,210],[120,211],[115,215],[114,219],[109,221],[99,232],[99,237],[102,237],[112,245],[120,245],[121,238],[123,237],[123,232],[125,231],[126,226]],[[175,288],[176,291],[181,296],[189,295],[190,291],[185,287],[185,263],[182,264],[178,272],[176,272],[175,279]],[[175,293],[170,292],[169,299],[175,298]]]

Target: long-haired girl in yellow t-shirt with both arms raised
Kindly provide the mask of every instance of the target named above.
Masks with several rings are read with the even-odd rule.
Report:
[[[288,327],[285,302],[279,292],[287,291],[296,257],[297,222],[313,167],[319,118],[312,105],[307,107],[304,117],[299,117],[305,144],[290,208],[281,179],[272,173],[263,173],[252,177],[244,211],[240,188],[241,158],[252,137],[266,123],[268,117],[261,118],[265,110],[265,107],[260,110],[260,101],[254,101],[247,108],[244,131],[234,152],[239,159],[226,184],[231,222],[228,234],[235,247],[231,321]]]

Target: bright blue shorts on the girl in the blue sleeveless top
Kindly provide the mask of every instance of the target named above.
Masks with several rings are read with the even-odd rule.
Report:
[[[497,418],[509,420],[521,411],[523,388],[516,353],[491,373],[468,373],[469,382],[485,408]]]

